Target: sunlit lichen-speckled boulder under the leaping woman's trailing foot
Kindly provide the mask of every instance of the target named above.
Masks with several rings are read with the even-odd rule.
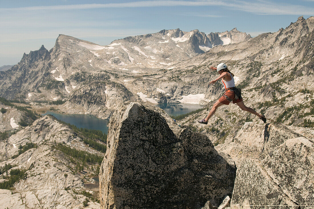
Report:
[[[314,131],[246,123],[228,145],[216,149],[236,161],[231,208],[288,205],[313,208]]]

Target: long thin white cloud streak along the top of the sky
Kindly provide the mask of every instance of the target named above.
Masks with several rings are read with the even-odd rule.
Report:
[[[311,0],[314,1],[314,0]],[[0,11],[18,10],[73,10],[73,9],[95,9],[95,8],[140,8],[140,7],[173,7],[173,6],[225,6],[234,10],[245,11],[254,14],[292,14],[292,15],[313,15],[314,8],[296,4],[281,4],[269,1],[239,1],[239,0],[204,0],[204,1],[136,1],[128,3],[107,3],[107,4],[73,4],[56,6],[35,6],[19,8],[0,8]]]

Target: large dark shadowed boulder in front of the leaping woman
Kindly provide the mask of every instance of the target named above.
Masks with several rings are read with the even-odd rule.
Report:
[[[100,169],[101,208],[200,208],[231,195],[234,162],[160,108],[120,105]]]

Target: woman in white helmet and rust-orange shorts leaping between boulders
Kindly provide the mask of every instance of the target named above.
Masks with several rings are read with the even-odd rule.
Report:
[[[242,110],[247,111],[249,113],[252,113],[254,115],[257,115],[261,120],[263,120],[264,123],[266,123],[265,116],[258,114],[255,110],[253,110],[250,107],[246,107],[243,103],[242,97],[240,97],[239,99],[235,99],[236,88],[235,88],[235,80],[233,79],[234,74],[228,70],[227,65],[225,63],[220,63],[217,66],[217,68],[211,66],[211,67],[209,67],[209,69],[217,70],[217,72],[220,74],[220,76],[217,79],[211,81],[209,83],[209,85],[214,84],[216,81],[221,79],[222,83],[225,86],[225,93],[223,96],[221,96],[219,98],[219,100],[217,102],[215,102],[214,106],[212,107],[212,109],[208,113],[208,116],[206,118],[204,118],[203,120],[199,120],[198,123],[208,124],[209,118],[215,114],[217,108],[224,105],[224,104],[229,105],[229,103],[230,103],[229,100],[232,100],[232,103],[238,105]]]

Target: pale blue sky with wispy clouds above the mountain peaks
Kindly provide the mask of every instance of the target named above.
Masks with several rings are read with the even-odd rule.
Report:
[[[237,28],[252,37],[314,16],[314,0],[0,0],[0,66],[50,50],[59,34],[99,45],[163,29],[206,34]]]

